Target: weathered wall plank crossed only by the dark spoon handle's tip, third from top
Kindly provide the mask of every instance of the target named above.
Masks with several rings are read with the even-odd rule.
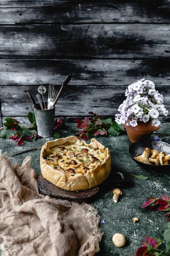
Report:
[[[145,77],[158,85],[170,84],[170,60],[0,60],[1,85],[128,85]]]

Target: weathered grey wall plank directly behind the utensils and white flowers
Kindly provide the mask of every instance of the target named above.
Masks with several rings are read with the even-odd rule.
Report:
[[[89,111],[112,116],[117,113],[119,105],[125,99],[126,86],[68,86],[60,96],[56,116],[84,116]],[[0,87],[2,116],[26,116],[33,111],[26,90],[31,92],[34,99],[37,87],[6,86]],[[157,86],[164,96],[164,105],[170,110],[170,87]],[[75,93],[76,92],[76,93]],[[47,93],[46,97],[47,98]],[[170,113],[169,113],[170,114]]]

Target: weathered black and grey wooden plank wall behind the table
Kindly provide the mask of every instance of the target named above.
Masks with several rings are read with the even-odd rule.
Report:
[[[170,0],[1,0],[1,125],[6,116],[25,122],[26,91],[59,88],[68,73],[56,108],[68,121],[89,111],[114,116],[127,85],[143,77],[170,111]]]

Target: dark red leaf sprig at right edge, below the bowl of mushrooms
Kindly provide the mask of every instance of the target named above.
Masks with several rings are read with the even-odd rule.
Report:
[[[147,208],[150,210],[157,209],[158,211],[167,211],[165,216],[170,221],[170,197],[163,195],[161,198],[149,198],[149,201],[144,202],[142,208]]]

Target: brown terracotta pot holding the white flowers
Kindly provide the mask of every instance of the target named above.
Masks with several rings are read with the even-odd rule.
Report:
[[[151,120],[146,123],[140,121],[135,127],[131,125],[127,126],[126,124],[123,124],[123,126],[126,128],[127,135],[131,142],[148,140],[153,131],[157,131],[160,128],[160,126],[152,126]]]

